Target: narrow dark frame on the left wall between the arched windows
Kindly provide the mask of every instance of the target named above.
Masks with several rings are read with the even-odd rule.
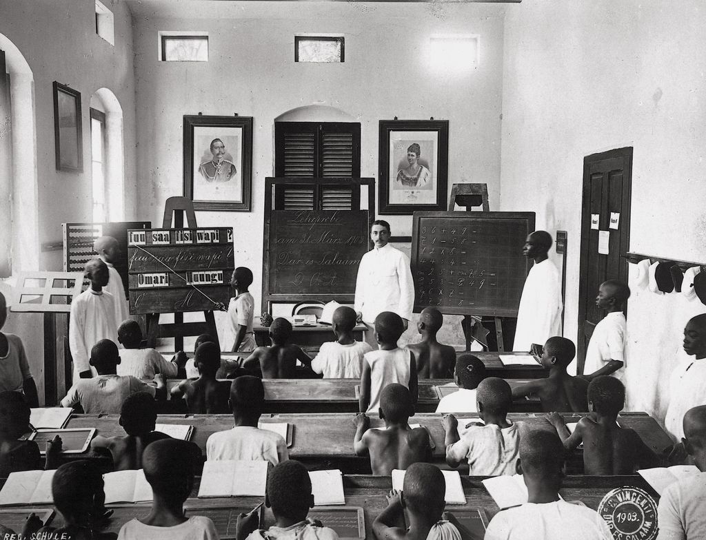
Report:
[[[56,170],[83,173],[83,125],[81,94],[73,88],[53,83],[54,149]]]

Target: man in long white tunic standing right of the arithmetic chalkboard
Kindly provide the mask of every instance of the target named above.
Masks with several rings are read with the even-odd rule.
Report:
[[[534,266],[522,288],[513,350],[542,355],[546,340],[560,335],[561,278],[547,255],[551,244],[549,233],[534,231],[522,248],[525,257],[534,259]]]

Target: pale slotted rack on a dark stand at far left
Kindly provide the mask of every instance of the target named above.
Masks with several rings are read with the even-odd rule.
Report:
[[[43,280],[44,286],[28,286],[27,280]],[[68,317],[71,302],[81,293],[83,272],[23,272],[17,283],[10,311],[44,314],[44,403],[54,405],[71,386]]]

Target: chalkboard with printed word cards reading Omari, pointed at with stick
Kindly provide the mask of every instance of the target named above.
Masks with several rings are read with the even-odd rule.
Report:
[[[230,227],[128,231],[130,312],[218,309],[234,268]]]

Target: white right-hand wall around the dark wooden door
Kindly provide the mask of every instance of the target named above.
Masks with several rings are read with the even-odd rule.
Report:
[[[505,16],[501,209],[568,231],[566,326],[578,332],[582,160],[633,146],[630,250],[706,262],[706,11],[700,0],[524,1]],[[633,291],[631,405],[664,417],[674,351],[706,311]]]

